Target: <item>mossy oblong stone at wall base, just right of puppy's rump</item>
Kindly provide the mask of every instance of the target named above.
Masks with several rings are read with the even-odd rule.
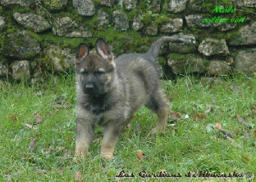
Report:
[[[168,59],[168,66],[172,68],[172,72],[175,74],[179,73],[204,73],[205,66],[202,58],[200,57],[189,57],[188,59],[176,61],[174,59]]]

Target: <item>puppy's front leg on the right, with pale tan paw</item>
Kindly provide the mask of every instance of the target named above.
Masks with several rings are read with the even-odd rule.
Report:
[[[113,157],[116,142],[118,141],[123,128],[124,125],[120,121],[109,122],[108,125],[104,127],[104,136],[100,155],[106,160],[110,160]]]

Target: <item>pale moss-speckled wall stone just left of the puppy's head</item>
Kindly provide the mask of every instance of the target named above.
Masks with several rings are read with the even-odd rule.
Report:
[[[44,53],[51,60],[54,72],[68,71],[74,67],[75,57],[69,48],[61,49],[58,45],[48,45]]]

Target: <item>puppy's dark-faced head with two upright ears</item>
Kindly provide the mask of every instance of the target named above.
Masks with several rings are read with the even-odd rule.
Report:
[[[85,43],[76,49],[76,66],[78,84],[84,94],[102,95],[108,92],[115,77],[114,56],[103,38],[95,45],[96,52],[90,52]]]

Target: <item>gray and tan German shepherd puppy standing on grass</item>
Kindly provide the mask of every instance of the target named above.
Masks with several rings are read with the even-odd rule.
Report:
[[[76,50],[76,157],[84,158],[96,125],[104,127],[101,156],[111,159],[125,124],[141,105],[157,114],[153,132],[166,129],[170,104],[159,80],[157,54],[163,42],[181,42],[164,36],[145,54],[123,54],[114,59],[99,38],[96,51],[80,43]]]

